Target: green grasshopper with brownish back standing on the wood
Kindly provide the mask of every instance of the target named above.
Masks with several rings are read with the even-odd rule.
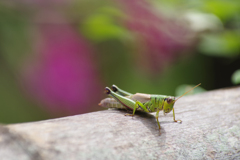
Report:
[[[199,85],[201,85],[201,83],[199,83],[189,91],[185,92],[182,96],[178,97],[177,99],[173,96],[166,95],[152,95],[143,93],[131,94],[118,88],[116,85],[112,85],[112,90],[108,87],[105,88],[106,94],[108,94],[112,98],[103,99],[99,103],[99,105],[107,108],[133,110],[132,114],[125,114],[128,116],[134,116],[136,110],[144,112],[157,112],[156,120],[160,130],[161,127],[158,121],[159,112],[163,110],[163,114],[165,115],[166,113],[173,111],[173,121],[181,123],[182,122],[181,120],[175,119],[175,112],[173,106],[178,99],[180,99],[185,94],[187,94],[194,88],[198,87]]]

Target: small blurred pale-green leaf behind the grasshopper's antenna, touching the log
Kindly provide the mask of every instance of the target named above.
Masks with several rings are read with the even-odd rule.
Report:
[[[189,85],[189,84],[180,85],[175,90],[175,96],[181,96],[184,93],[186,93],[187,91],[191,90],[193,87],[195,87],[195,85]],[[202,87],[198,86],[197,88],[195,88],[194,90],[190,91],[186,95],[193,95],[193,94],[202,93],[202,92],[205,92],[205,91],[206,91],[205,89],[203,89]]]

